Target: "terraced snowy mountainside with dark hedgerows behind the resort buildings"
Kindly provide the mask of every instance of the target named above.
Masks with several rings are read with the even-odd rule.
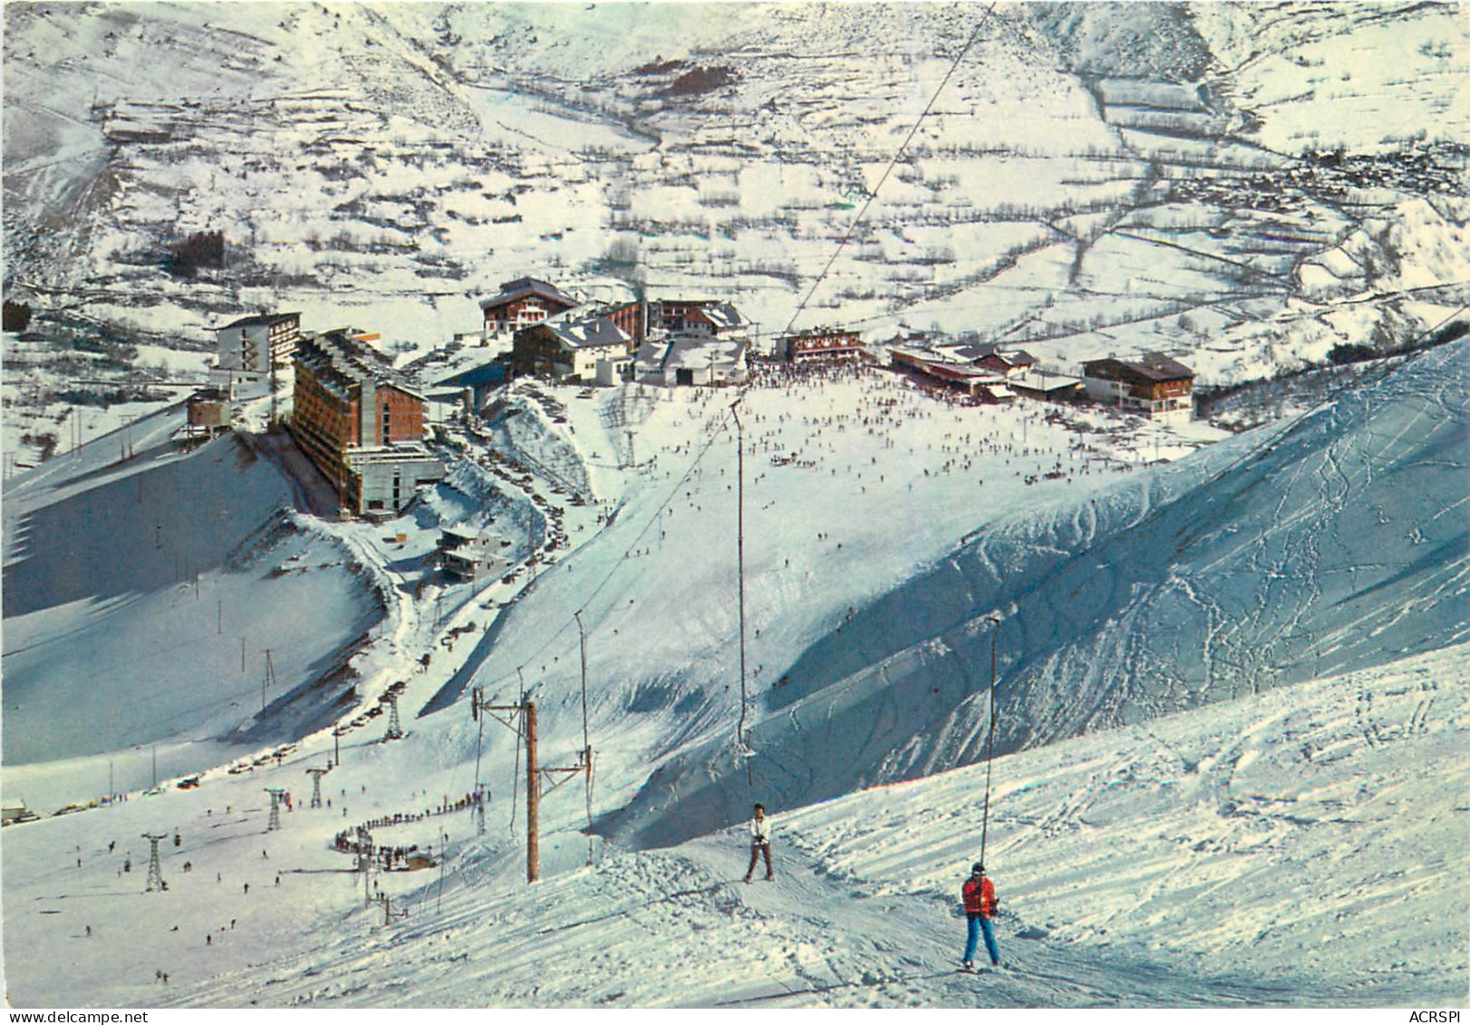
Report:
[[[4,385],[21,463],[72,406],[198,374],[237,310],[426,351],[519,272],[1058,371],[1150,346],[1210,385],[1470,296],[1454,4],[63,10],[6,12],[6,299],[44,338],[7,357],[37,368]],[[166,274],[198,231],[226,266]]]

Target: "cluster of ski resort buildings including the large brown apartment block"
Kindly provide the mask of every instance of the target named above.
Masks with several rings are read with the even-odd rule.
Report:
[[[1095,401],[1166,421],[1188,421],[1194,410],[1194,372],[1152,351],[1088,360],[1082,376],[1070,376],[1016,347],[910,335],[883,343],[881,357],[856,331],[814,328],[778,335],[757,354],[754,325],[729,301],[585,303],[535,278],[506,281],[479,306],[479,331],[403,368],[373,346],[379,335],[303,331],[300,312],[215,328],[213,387],[188,400],[184,431],[228,429],[243,390],[259,394],[265,385],[273,396],[276,372],[293,368],[291,437],[337,490],[343,515],[387,518],[415,488],[444,478],[444,463],[425,446],[429,403],[478,416],[492,393],[523,376],[584,387],[722,387],[750,381],[753,360],[792,369],[864,360],[964,403]]]

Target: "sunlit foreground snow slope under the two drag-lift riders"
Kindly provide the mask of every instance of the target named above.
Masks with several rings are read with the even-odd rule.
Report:
[[[995,974],[954,972],[982,766],[776,807],[778,881],[750,887],[735,829],[606,850],[592,868],[576,868],[575,834],[553,831],[542,850],[560,871],[528,888],[497,793],[484,837],[463,812],[375,829],[435,851],[448,837],[442,884],[434,871],[373,874],[407,913],[384,925],[329,841],[366,815],[437,803],[423,741],[444,734],[423,722],[417,746],[344,751],[323,788],[334,807],[298,800],[281,832],[263,832],[260,787],[298,788],[306,759],[7,829],[7,996],[22,1007],[1454,1003],[1470,909],[1464,653],[998,757],[986,862],[1007,966]],[[578,803],[542,807],[562,819]],[[165,824],[184,843],[165,844],[169,891],[144,894],[126,837]],[[134,875],[119,881],[123,846]],[[74,847],[81,868],[53,856]],[[122,922],[147,943],[121,941]]]

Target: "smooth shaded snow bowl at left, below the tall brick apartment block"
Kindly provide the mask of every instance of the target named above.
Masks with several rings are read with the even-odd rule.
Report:
[[[16,793],[9,774],[31,762],[172,741],[160,765],[176,775],[229,757],[181,741],[238,729],[259,744],[340,713],[350,684],[323,681],[381,601],[291,519],[294,485],[262,447],[226,437],[179,453],[179,424],[176,407],[138,421],[131,459],[98,438],[6,484],[7,794],[47,807],[106,793],[97,759]],[[81,793],[78,774],[93,784]]]

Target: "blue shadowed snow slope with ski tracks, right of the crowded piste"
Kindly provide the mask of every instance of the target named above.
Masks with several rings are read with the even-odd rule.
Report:
[[[761,793],[807,804],[982,757],[992,612],[1001,750],[1464,643],[1467,351],[983,531],[781,669],[751,735]],[[642,844],[719,828],[745,775],[714,738],[609,828]]]

